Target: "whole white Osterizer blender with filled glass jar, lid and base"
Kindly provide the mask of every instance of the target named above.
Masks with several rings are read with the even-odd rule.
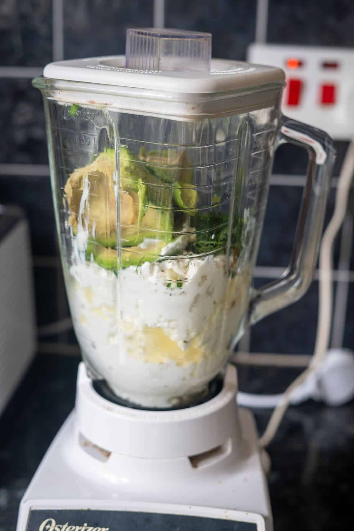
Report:
[[[331,139],[282,116],[280,68],[211,59],[209,33],[129,29],[126,56],[51,63],[33,85],[83,362],[18,531],[270,531],[228,357],[312,280]],[[307,150],[307,181],[289,267],[256,290],[284,142]]]

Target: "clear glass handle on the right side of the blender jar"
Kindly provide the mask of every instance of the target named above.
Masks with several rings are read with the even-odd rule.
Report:
[[[317,261],[330,178],[335,158],[329,135],[296,120],[281,117],[275,149],[289,142],[308,152],[306,183],[290,264],[283,276],[252,289],[246,327],[296,302],[309,287]]]

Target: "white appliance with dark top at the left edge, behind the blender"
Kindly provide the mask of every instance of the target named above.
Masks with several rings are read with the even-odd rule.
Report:
[[[0,205],[0,414],[36,351],[27,219]]]

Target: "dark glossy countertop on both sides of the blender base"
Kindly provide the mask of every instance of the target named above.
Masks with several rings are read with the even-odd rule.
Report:
[[[38,355],[0,418],[0,531],[15,529],[21,497],[74,406],[79,361]],[[258,373],[263,387],[267,374]],[[273,392],[272,378],[269,382],[264,391]],[[268,411],[256,412],[260,431],[267,419]],[[353,528],[353,443],[353,402],[329,408],[309,401],[288,410],[269,447],[274,531]]]

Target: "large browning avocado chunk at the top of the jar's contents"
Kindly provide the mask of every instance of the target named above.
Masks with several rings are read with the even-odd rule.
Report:
[[[172,188],[161,182],[136,159],[134,153],[120,147],[120,234],[124,245],[137,245],[146,237],[170,241],[173,230]],[[71,211],[68,224],[77,233],[79,221],[88,224],[90,238],[105,247],[117,246],[115,195],[115,151],[106,149],[91,164],[77,168],[68,178],[64,194]],[[85,179],[88,178],[89,205],[81,211]],[[160,207],[158,210],[156,207]],[[149,210],[149,215],[146,216]],[[150,229],[150,230],[148,230]],[[166,234],[165,234],[166,233]]]

